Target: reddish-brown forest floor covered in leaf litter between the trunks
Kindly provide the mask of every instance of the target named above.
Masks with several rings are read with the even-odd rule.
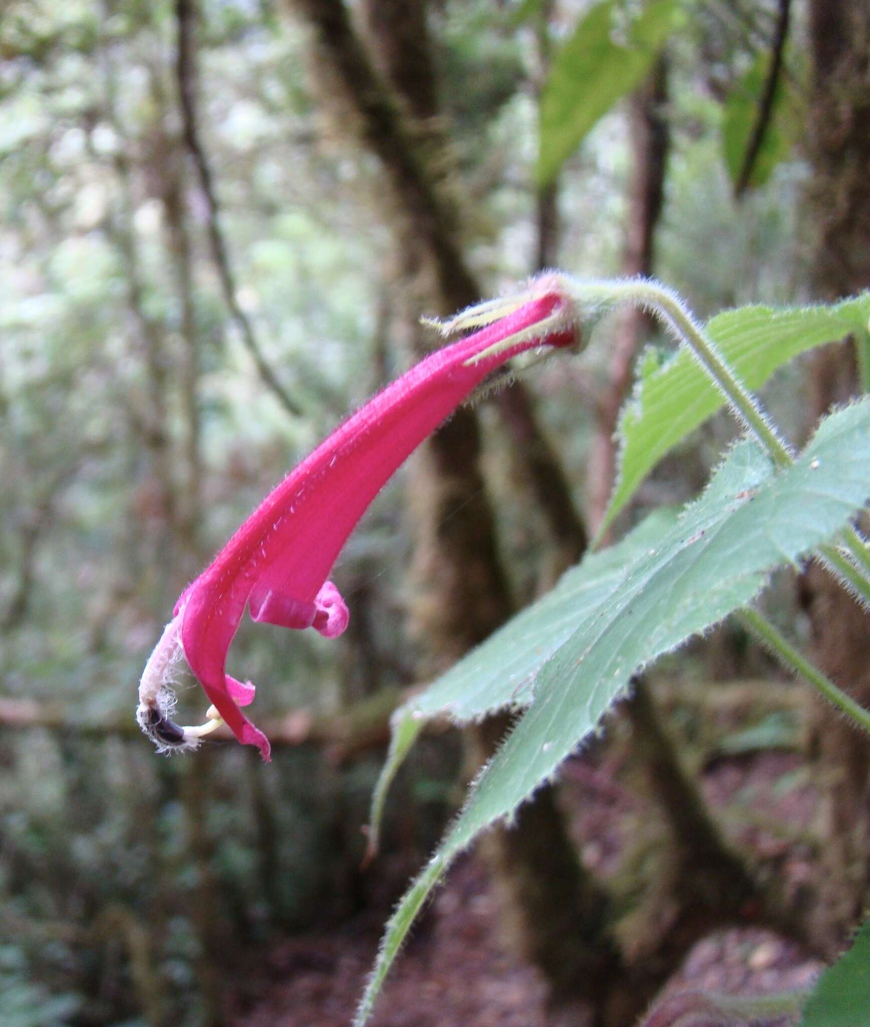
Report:
[[[732,841],[796,892],[811,872],[818,795],[802,759],[769,741],[708,759],[701,781]],[[639,831],[650,839],[663,831],[651,800],[619,781],[620,759],[612,750],[590,753],[570,760],[562,778],[583,860],[604,878],[619,872]],[[370,911],[331,933],[285,940],[258,954],[243,990],[232,995],[232,1027],[349,1024],[382,924],[383,914]],[[699,941],[667,990],[770,994],[806,987],[819,969],[817,960],[769,933],[730,929]],[[416,925],[372,1027],[496,1025],[565,1027],[565,1021],[547,1013],[538,974],[502,946],[496,898],[472,853],[453,868]],[[571,1020],[570,1027],[581,1025]]]

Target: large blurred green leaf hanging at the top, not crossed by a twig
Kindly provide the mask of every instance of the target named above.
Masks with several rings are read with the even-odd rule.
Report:
[[[628,28],[620,0],[580,20],[553,62],[541,92],[537,180],[549,185],[602,115],[636,88],[682,20],[679,0],[651,0]]]

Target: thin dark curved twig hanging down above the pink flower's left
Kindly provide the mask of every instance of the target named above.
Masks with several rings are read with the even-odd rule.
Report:
[[[195,0],[176,0],[176,20],[178,23],[178,52],[176,59],[176,76],[178,78],[179,97],[184,145],[187,148],[196,175],[199,188],[205,200],[207,210],[209,244],[212,259],[218,271],[224,302],[230,313],[230,318],[237,328],[245,348],[257,367],[263,384],[272,392],[283,409],[294,417],[302,415],[302,408],[287,392],[271,369],[254,334],[254,327],[238,303],[238,290],[235,283],[230,263],[229,251],[224,240],[220,226],[220,206],[215,190],[215,181],[209,164],[205,150],[199,139],[196,125],[196,48],[194,40]]]

